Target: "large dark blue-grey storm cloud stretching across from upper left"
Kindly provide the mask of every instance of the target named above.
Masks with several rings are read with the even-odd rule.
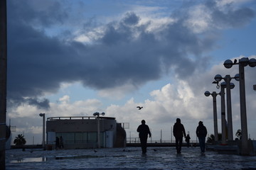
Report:
[[[235,18],[240,13],[231,16]],[[248,21],[251,13],[242,14],[247,14]],[[48,108],[49,101],[38,97],[55,93],[62,82],[82,81],[93,89],[140,86],[159,79],[169,69],[186,78],[215,42],[214,38],[196,35],[186,28],[186,17],[182,15],[175,23],[152,33],[147,30],[150,23],[139,25],[139,16],[130,12],[121,21],[108,23],[102,38],[91,45],[63,42],[63,38],[46,35],[42,28],[68,19],[68,13],[58,3],[46,11],[36,11],[28,4],[9,1],[8,16],[8,99],[39,108]]]

